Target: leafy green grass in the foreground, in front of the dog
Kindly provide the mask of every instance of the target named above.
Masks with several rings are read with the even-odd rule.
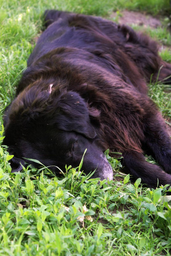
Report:
[[[0,162],[1,255],[169,255],[166,187],[142,189],[129,175],[98,184],[72,168],[61,178],[45,168],[12,174],[9,158]]]

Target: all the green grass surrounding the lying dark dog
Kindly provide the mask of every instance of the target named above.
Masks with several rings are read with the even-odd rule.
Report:
[[[42,1],[1,0],[0,8],[0,254],[1,255],[170,255],[171,207],[166,186],[144,188],[130,183],[119,160],[108,159],[114,181],[84,176],[66,168],[56,177],[47,168],[11,173],[11,156],[3,146],[3,112],[15,95],[45,9],[106,16],[112,10],[168,10],[168,1]],[[150,8],[149,8],[150,7]],[[150,35],[170,46],[170,35],[158,29]],[[171,62],[169,50],[161,53]],[[165,118],[171,118],[170,93],[164,85],[149,85],[149,95]],[[148,161],[153,162],[151,157]]]

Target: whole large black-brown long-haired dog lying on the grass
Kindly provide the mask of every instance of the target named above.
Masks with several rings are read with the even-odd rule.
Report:
[[[4,143],[15,155],[13,169],[21,170],[24,157],[58,172],[54,166],[78,166],[87,149],[84,172],[96,169],[94,177],[112,179],[103,155],[109,148],[122,153],[125,171],[134,179],[151,187],[171,184],[170,138],[146,96],[152,74],[154,81],[171,74],[156,44],[97,17],[51,10],[45,21],[47,29],[5,113]],[[167,173],[147,163],[143,150]]]

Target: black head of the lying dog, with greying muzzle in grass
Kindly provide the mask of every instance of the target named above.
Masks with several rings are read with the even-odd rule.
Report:
[[[78,93],[52,86],[42,90],[32,84],[6,110],[4,144],[14,154],[13,171],[22,170],[25,158],[37,159],[54,172],[65,164],[77,167],[87,149],[82,170],[96,170],[93,177],[111,180],[112,168],[98,146],[98,111],[90,110]]]

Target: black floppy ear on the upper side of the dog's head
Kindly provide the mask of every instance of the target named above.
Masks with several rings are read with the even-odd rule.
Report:
[[[84,100],[75,92],[67,92],[58,103],[60,111],[53,113],[52,122],[55,121],[58,129],[73,131],[94,139],[97,134],[90,121],[89,109]],[[57,112],[57,113],[56,113]]]

